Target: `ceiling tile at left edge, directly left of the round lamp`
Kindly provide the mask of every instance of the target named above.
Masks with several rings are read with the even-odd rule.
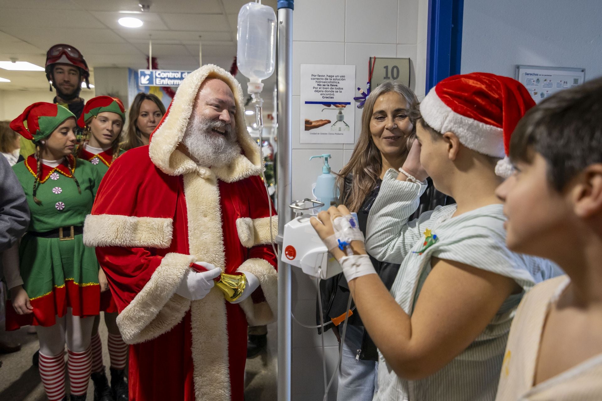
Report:
[[[55,28],[69,26],[70,28],[104,28],[95,17],[87,11],[79,10],[16,10],[5,9],[0,13],[0,26],[4,28],[16,26],[29,28]]]

